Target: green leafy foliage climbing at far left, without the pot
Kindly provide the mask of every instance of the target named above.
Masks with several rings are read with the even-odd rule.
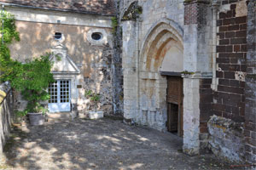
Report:
[[[44,106],[40,102],[49,99],[46,89],[50,82],[54,82],[50,72],[52,64],[49,61],[49,54],[27,60],[26,63],[11,59],[8,45],[13,40],[20,40],[14,16],[3,12],[0,26],[3,27],[0,31],[3,33],[3,42],[0,42],[0,82],[10,82],[11,87],[27,100],[26,110],[19,112],[21,115],[28,112],[44,112]]]

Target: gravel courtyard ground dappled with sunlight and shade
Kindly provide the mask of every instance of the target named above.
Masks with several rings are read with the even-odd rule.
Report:
[[[121,120],[77,119],[13,127],[0,169],[230,169],[212,155],[186,156],[182,139]]]

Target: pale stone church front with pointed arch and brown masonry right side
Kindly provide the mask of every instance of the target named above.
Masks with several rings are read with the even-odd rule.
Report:
[[[255,162],[255,2],[119,6],[125,122],[176,132],[190,155]]]

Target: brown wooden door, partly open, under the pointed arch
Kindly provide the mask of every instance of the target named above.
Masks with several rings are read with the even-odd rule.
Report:
[[[167,77],[167,129],[183,136],[183,78]]]

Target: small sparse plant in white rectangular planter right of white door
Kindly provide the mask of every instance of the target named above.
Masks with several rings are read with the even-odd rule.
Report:
[[[90,119],[98,119],[103,117],[103,111],[98,111],[98,104],[101,100],[101,95],[93,93],[91,90],[85,91],[85,97],[90,99],[90,104],[93,106],[93,111],[89,111]]]

